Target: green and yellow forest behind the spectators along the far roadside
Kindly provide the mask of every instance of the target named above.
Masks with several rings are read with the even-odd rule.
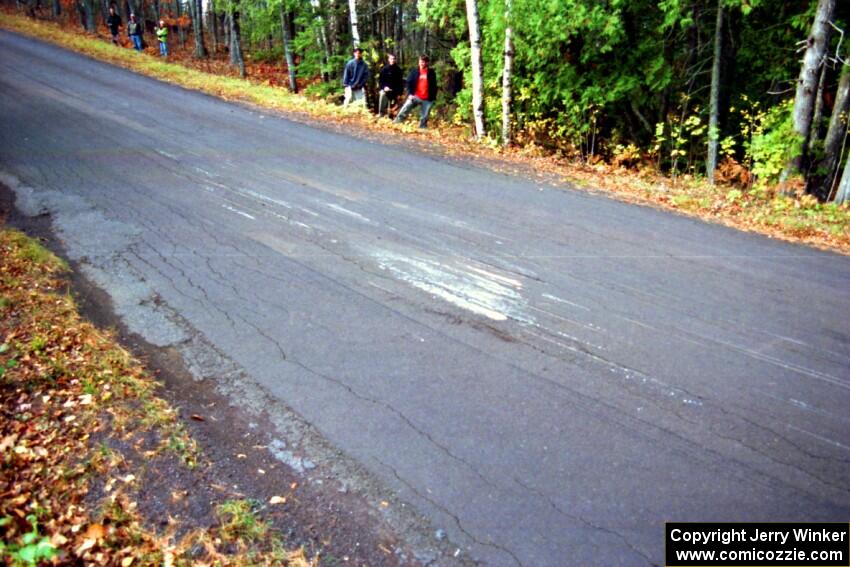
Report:
[[[367,100],[388,53],[427,54],[440,119],[491,145],[850,202],[850,2],[837,0],[28,0],[94,31],[164,19],[198,59],[280,65],[341,99],[355,46]],[[148,41],[153,41],[148,33]]]

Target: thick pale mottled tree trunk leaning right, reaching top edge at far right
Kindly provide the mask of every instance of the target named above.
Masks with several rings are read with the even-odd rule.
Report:
[[[782,174],[783,181],[792,175],[802,173],[803,162],[808,150],[806,142],[809,139],[809,130],[812,127],[818,78],[829,43],[831,30],[829,21],[834,12],[835,0],[818,0],[815,21],[806,40],[806,54],[803,56],[800,78],[797,80],[797,93],[794,97],[794,131],[799,138],[799,147],[794,148],[794,155],[791,156]]]

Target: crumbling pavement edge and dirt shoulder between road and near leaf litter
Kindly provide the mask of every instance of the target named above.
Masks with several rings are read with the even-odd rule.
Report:
[[[347,557],[346,564],[373,566],[474,564],[444,530],[434,529],[291,408],[266,394],[134,274],[120,253],[132,246],[137,231],[106,219],[80,197],[36,191],[6,174],[0,174],[0,218],[69,261],[82,314],[100,327],[116,329],[120,342],[163,383],[161,395],[179,408],[211,463],[199,473],[207,484],[199,492],[226,486],[233,494],[268,501],[297,483],[294,498],[266,517],[290,543],[321,549],[326,560]],[[97,238],[107,224],[116,237]],[[196,519],[205,521],[202,516]]]

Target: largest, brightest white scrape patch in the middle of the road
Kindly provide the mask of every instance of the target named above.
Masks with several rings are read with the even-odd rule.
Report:
[[[522,282],[471,270],[459,262],[437,262],[386,250],[373,251],[371,255],[382,270],[395,278],[457,307],[494,321],[533,322],[524,312],[527,302],[520,294]],[[508,281],[510,284],[506,285]]]

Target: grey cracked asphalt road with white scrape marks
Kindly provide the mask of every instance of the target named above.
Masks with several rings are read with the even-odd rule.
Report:
[[[5,32],[0,170],[131,327],[203,335],[488,565],[850,517],[846,257]]]

